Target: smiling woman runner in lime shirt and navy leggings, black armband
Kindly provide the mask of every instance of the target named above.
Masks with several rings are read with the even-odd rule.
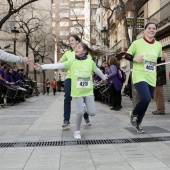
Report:
[[[130,122],[138,133],[144,133],[141,123],[156,86],[156,64],[165,60],[162,46],[155,40],[156,24],[147,23],[144,37],[134,41],[125,58],[133,62],[132,80],[139,101],[131,112]]]

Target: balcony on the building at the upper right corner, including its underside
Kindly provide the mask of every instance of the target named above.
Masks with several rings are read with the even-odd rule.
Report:
[[[157,36],[170,30],[170,2],[151,15],[148,20],[157,24]]]

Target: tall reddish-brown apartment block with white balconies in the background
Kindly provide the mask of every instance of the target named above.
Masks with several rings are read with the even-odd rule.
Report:
[[[55,62],[69,50],[70,35],[78,35],[85,43],[90,42],[90,3],[89,0],[52,0],[52,27],[56,37]],[[56,72],[64,81],[66,71]]]

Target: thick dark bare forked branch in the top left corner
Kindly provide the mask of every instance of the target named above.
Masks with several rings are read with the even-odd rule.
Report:
[[[0,29],[2,28],[3,24],[13,15],[18,13],[21,9],[23,9],[28,4],[36,2],[38,0],[27,0],[26,2],[20,1],[15,2],[15,0],[6,0],[8,3],[8,11],[5,13],[3,18],[0,20]]]

